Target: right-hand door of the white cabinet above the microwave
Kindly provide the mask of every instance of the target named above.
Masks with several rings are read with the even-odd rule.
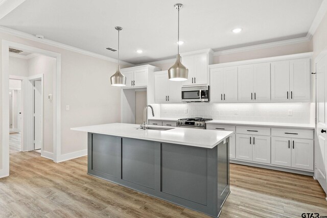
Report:
[[[208,84],[208,58],[207,54],[194,56],[194,84]]]

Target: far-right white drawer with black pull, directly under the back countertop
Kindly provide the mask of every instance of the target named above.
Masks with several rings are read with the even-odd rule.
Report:
[[[308,138],[313,139],[313,130],[302,129],[286,129],[286,128],[272,128],[271,135],[283,136],[290,138]]]

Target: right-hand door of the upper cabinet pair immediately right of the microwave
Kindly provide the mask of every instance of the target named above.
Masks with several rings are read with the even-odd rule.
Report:
[[[237,102],[237,67],[226,67],[223,71],[223,100],[224,102]]]

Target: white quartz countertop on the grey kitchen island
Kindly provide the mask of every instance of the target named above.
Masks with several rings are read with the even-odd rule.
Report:
[[[153,127],[157,128],[157,126]],[[113,123],[86,127],[76,127],[71,128],[71,130],[127,138],[136,138],[150,141],[183,144],[185,146],[195,146],[208,149],[214,148],[215,146],[217,146],[217,144],[225,140],[233,133],[229,131],[192,128],[174,128],[165,131],[142,130],[137,128],[139,128],[139,125],[136,124]]]

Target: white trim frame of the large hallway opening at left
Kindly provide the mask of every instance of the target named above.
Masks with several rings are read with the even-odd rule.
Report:
[[[49,155],[47,157],[53,159],[54,162],[58,162],[61,156],[61,54],[17,42],[2,40],[2,111],[0,110],[0,112],[2,112],[2,124],[0,129],[0,138],[2,139],[2,148],[0,148],[2,169],[0,169],[0,178],[9,176],[9,95],[7,93],[9,90],[9,47],[56,58],[56,73],[53,75],[53,154],[48,152]]]

